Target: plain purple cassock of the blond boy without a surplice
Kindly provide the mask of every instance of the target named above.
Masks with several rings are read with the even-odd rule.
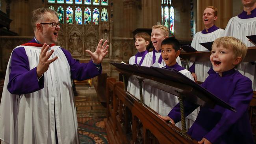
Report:
[[[211,74],[202,87],[224,102],[235,107],[237,112],[219,105],[213,109],[200,107],[197,119],[187,132],[195,140],[206,138],[213,144],[253,144],[248,107],[252,99],[252,82],[249,78],[231,69],[219,74]],[[198,105],[185,101],[185,116]],[[174,122],[180,121],[179,103],[168,114]]]

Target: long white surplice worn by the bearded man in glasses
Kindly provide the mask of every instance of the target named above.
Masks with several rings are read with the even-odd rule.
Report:
[[[31,70],[39,63],[41,47],[22,47]],[[50,49],[54,49],[50,59],[55,56],[58,59],[44,73],[44,88],[29,94],[13,95],[7,90],[11,57],[9,59],[0,105],[0,127],[4,127],[0,138],[4,143],[55,144],[56,133],[59,144],[79,143],[70,66],[59,46]]]

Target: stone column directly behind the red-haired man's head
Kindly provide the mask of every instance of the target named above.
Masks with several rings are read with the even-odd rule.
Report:
[[[214,6],[218,9],[218,19],[215,25],[219,28],[226,28],[228,20],[232,17],[232,2],[232,0],[197,0],[197,31],[204,29],[202,14],[207,6]]]

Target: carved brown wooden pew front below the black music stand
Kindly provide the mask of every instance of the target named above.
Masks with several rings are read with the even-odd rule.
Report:
[[[111,144],[197,144],[178,127],[124,90],[124,83],[107,79],[106,125]]]

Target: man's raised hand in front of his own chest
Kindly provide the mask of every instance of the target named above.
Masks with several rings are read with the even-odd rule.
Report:
[[[52,49],[49,53],[47,52],[50,48],[49,45],[44,43],[41,48],[41,52],[39,55],[39,63],[37,65],[37,78],[40,78],[49,68],[49,65],[54,62],[58,57],[54,57],[53,59],[49,59],[54,50]]]

